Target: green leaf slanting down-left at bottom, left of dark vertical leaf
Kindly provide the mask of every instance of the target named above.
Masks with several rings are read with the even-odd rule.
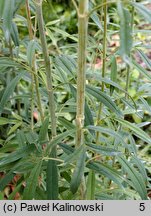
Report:
[[[31,200],[35,198],[35,191],[38,184],[38,177],[40,175],[42,161],[38,162],[31,170],[29,178],[26,180],[26,187],[23,193],[24,200]]]

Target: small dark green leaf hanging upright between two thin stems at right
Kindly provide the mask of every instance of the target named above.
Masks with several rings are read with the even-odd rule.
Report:
[[[110,78],[113,82],[117,82],[117,62],[115,56],[112,57],[111,61],[111,75]],[[110,85],[110,94],[112,95],[114,92],[115,87]]]

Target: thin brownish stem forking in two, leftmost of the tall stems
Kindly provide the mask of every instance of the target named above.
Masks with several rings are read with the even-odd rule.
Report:
[[[33,34],[33,30],[32,30],[31,14],[30,14],[30,7],[29,7],[29,1],[28,0],[26,0],[26,13],[27,13],[27,23],[28,23],[29,38],[30,38],[30,40],[33,40],[35,37],[34,37],[34,34]],[[34,122],[33,122],[34,82],[35,82],[35,88],[36,88],[38,110],[39,110],[40,118],[41,118],[42,122],[44,120],[44,114],[43,114],[43,109],[42,109],[42,104],[41,104],[41,96],[40,96],[40,92],[39,92],[39,81],[38,81],[38,74],[37,74],[37,69],[36,69],[35,56],[33,58],[32,65],[33,65],[32,70],[33,70],[34,73],[32,73],[32,75],[31,75],[31,129],[33,130],[33,128],[34,128]]]

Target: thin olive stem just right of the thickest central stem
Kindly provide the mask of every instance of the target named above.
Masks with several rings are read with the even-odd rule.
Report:
[[[104,2],[104,32],[103,32],[103,65],[102,65],[102,77],[105,77],[105,72],[106,72],[106,52],[107,52],[107,0],[103,0]],[[105,83],[102,82],[102,87],[101,91],[104,92],[105,88]],[[103,104],[101,103],[99,106],[99,111],[98,111],[98,117],[97,117],[97,125],[100,125],[100,115],[102,113],[102,106]],[[96,144],[99,143],[99,137],[100,133],[96,133]]]

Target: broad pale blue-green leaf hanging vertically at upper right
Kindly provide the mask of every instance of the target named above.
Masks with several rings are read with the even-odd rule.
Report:
[[[120,54],[125,58],[129,56],[132,48],[131,14],[118,2],[118,14],[120,18]]]

